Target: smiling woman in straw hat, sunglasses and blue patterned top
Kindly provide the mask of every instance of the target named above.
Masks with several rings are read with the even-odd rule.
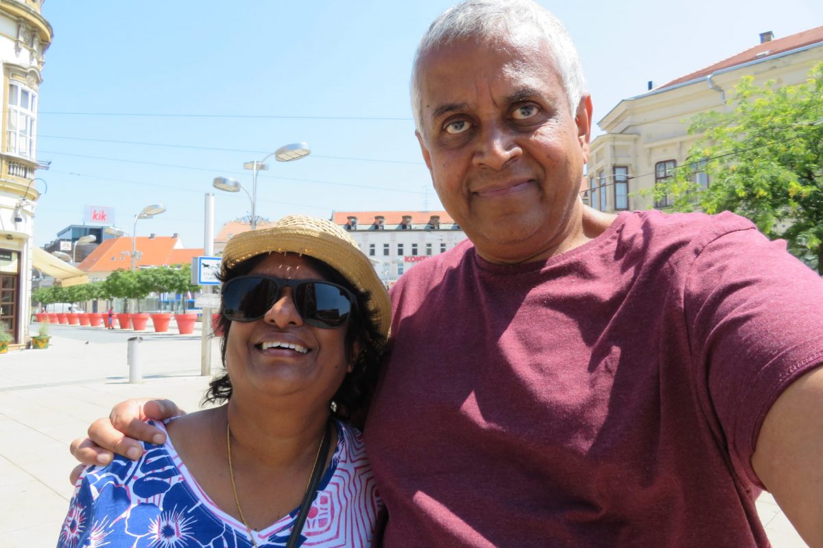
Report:
[[[204,399],[223,405],[86,469],[58,546],[370,546],[383,504],[346,420],[388,336],[383,284],[348,234],[299,215],[232,237],[221,281],[226,372]]]

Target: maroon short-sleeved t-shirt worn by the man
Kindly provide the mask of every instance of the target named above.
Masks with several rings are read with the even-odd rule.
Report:
[[[823,362],[823,282],[732,214],[625,213],[549,260],[470,242],[393,289],[365,428],[385,546],[769,546],[751,454]]]

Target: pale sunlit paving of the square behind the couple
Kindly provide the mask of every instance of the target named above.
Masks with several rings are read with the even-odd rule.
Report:
[[[0,355],[0,548],[55,546],[72,496],[68,444],[125,398],[173,398],[191,411],[205,392],[200,337],[140,334],[143,382],[128,384],[131,331],[53,326],[49,348]],[[220,371],[212,341],[212,373]],[[757,501],[774,548],[806,546],[774,499]]]

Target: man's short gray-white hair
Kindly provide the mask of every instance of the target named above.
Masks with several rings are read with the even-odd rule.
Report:
[[[586,84],[577,49],[563,23],[532,0],[466,0],[441,13],[417,46],[411,85],[412,112],[417,130],[422,133],[420,63],[427,53],[461,39],[482,41],[522,35],[524,32],[546,40],[574,116]]]

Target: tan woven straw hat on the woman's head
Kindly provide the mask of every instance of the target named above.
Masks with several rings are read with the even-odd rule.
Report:
[[[322,260],[361,292],[369,294],[369,313],[379,331],[388,337],[392,303],[370,260],[355,239],[331,221],[306,215],[287,215],[277,223],[230,237],[223,250],[221,273],[253,256],[276,251],[300,253]]]

